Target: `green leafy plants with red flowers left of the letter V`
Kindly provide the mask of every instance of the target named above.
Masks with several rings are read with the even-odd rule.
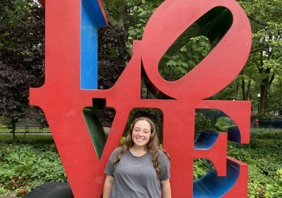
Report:
[[[10,143],[0,141],[0,195],[16,190],[21,197],[45,182],[68,181],[53,141]]]

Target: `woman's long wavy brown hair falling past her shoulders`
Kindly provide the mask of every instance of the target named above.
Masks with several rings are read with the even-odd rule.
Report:
[[[114,162],[113,162],[114,169],[116,169],[116,163],[118,163],[120,161],[121,156],[124,155],[129,148],[133,147],[134,142],[132,140],[132,132],[133,132],[135,123],[137,123],[140,120],[147,121],[150,124],[150,127],[151,127],[150,140],[146,144],[145,149],[146,149],[146,151],[149,151],[149,153],[150,153],[150,157],[153,160],[153,166],[156,169],[157,176],[159,178],[160,173],[161,173],[161,167],[159,166],[159,149],[161,149],[166,154],[166,156],[168,157],[169,160],[170,160],[170,156],[169,156],[169,154],[167,153],[166,150],[160,148],[155,125],[149,118],[146,118],[146,117],[137,118],[131,124],[131,127],[128,130],[128,133],[127,133],[127,136],[126,136],[126,140],[120,146],[122,149],[121,149],[117,159],[114,160]]]

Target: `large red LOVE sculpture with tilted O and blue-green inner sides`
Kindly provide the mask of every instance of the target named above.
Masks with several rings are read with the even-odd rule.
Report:
[[[99,3],[46,1],[46,82],[30,89],[30,104],[45,112],[74,197],[101,197],[108,158],[130,111],[140,107],[164,114],[173,198],[247,198],[248,166],[226,155],[227,140],[249,143],[251,103],[203,100],[232,82],[248,58],[251,28],[243,9],[235,0],[164,1],[142,41],[133,42],[133,56],[115,86],[95,90],[96,30],[106,25]],[[165,81],[159,69],[197,36],[207,37],[212,51],[180,80]],[[157,99],[141,99],[141,77]],[[97,114],[105,106],[116,111],[107,139]],[[218,109],[233,127],[228,133],[201,131],[194,141],[195,109]],[[196,181],[194,158],[207,159],[211,169]]]

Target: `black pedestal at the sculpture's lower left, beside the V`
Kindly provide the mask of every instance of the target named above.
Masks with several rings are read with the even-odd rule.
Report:
[[[67,182],[46,182],[23,198],[74,198]]]

